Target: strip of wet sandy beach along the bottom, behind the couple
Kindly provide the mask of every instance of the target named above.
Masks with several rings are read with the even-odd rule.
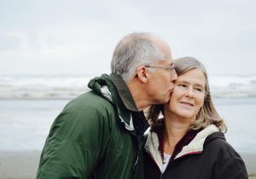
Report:
[[[0,179],[34,179],[39,151],[0,152]],[[241,153],[250,179],[256,179],[256,154]]]

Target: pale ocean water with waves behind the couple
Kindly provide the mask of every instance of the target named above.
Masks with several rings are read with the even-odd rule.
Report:
[[[50,125],[68,101],[89,90],[83,76],[0,77],[0,151],[42,150]],[[239,153],[256,153],[256,76],[209,79],[213,101]]]

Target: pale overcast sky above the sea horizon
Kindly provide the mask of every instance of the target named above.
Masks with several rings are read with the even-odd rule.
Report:
[[[110,72],[130,32],[153,32],[173,58],[213,75],[256,74],[254,0],[0,0],[0,75]]]

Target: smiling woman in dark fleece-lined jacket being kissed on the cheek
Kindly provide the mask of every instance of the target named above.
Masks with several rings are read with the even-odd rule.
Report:
[[[169,103],[149,111],[145,178],[243,179],[245,164],[225,140],[226,126],[212,103],[207,71],[191,57],[175,61]],[[160,112],[164,118],[158,118]]]

